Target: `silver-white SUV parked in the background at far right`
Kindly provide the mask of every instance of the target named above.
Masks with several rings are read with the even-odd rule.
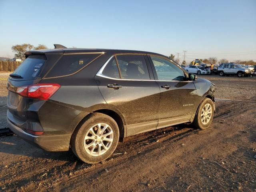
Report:
[[[237,75],[238,77],[251,75],[253,72],[242,65],[236,63],[223,63],[218,67],[218,74],[220,76],[224,75]]]

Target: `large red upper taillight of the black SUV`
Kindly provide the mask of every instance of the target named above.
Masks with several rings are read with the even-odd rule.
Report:
[[[59,84],[41,83],[28,86],[20,86],[17,88],[16,93],[23,97],[48,100],[58,89]]]

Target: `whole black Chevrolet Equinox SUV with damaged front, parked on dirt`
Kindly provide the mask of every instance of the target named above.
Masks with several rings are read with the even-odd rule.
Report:
[[[143,51],[29,51],[7,88],[12,131],[47,151],[71,147],[87,163],[127,136],[185,122],[205,129],[215,111],[214,84]]]

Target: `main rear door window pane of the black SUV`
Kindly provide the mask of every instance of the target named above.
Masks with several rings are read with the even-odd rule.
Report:
[[[150,79],[143,55],[118,55],[116,58],[118,60],[122,79]]]

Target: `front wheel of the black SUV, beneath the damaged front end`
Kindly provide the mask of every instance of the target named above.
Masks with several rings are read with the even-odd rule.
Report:
[[[198,108],[193,124],[196,128],[206,129],[212,123],[214,116],[214,103],[210,98],[204,98]]]

